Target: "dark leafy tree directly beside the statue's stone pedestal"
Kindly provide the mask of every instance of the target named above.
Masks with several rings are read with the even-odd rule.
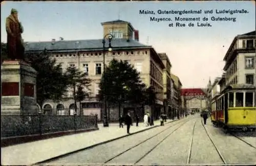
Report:
[[[46,49],[40,53],[26,53],[25,57],[38,72],[36,100],[40,107],[46,99],[54,102],[62,100],[68,86],[67,76],[62,73],[62,65],[56,64],[56,59],[51,59]]]

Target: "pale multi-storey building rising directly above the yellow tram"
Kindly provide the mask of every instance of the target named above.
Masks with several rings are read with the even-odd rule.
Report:
[[[255,31],[236,36],[229,46],[224,61],[226,86],[234,84],[256,85]]]

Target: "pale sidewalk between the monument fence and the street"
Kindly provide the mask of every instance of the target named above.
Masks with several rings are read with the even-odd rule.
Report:
[[[176,119],[175,119],[176,120]],[[167,120],[172,122],[173,120]],[[160,126],[160,121],[154,121],[154,126],[143,126],[136,123],[130,128],[131,134],[141,132],[150,128]],[[1,148],[2,165],[29,165],[41,162],[53,157],[86,149],[97,144],[110,142],[120,137],[128,136],[126,133],[126,125],[124,128],[119,128],[118,123],[111,123],[109,127],[103,127],[103,124],[98,124],[99,130],[78,133],[73,135],[65,135],[54,137],[47,140],[34,141],[24,144],[18,144]]]

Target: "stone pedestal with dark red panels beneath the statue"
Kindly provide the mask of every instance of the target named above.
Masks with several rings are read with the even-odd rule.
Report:
[[[2,115],[32,115],[38,113],[36,75],[36,70],[26,62],[3,62],[1,66]]]

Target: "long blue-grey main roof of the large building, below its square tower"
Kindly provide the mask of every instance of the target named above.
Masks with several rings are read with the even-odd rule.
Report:
[[[108,45],[108,42],[106,42]],[[145,48],[151,47],[148,45],[144,45],[139,43],[137,40],[130,39],[127,41],[126,39],[117,39],[114,38],[111,41],[111,46],[113,49],[120,47],[137,47],[137,48]],[[41,51],[45,48],[47,50],[65,50],[65,51],[76,51],[76,50],[102,50],[102,39],[94,39],[94,40],[61,40],[61,41],[45,41],[45,42],[26,42],[25,51]]]

